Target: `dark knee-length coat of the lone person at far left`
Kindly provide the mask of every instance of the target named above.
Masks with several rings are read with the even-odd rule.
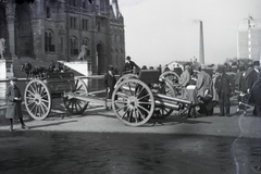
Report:
[[[7,100],[8,100],[8,107],[7,107],[7,119],[14,119],[14,117],[23,117],[22,113],[22,95],[20,89],[14,86],[9,86],[5,94]],[[21,98],[21,100],[15,100],[14,98]]]

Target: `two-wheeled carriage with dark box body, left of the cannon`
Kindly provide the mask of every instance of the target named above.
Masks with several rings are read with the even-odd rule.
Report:
[[[53,98],[61,98],[64,92],[87,95],[87,86],[83,79],[74,77],[72,72],[46,73],[45,77],[34,78],[28,82],[24,91],[24,102],[28,114],[35,120],[44,120],[48,116],[52,107]],[[83,113],[87,101],[66,100],[65,108],[74,114]]]

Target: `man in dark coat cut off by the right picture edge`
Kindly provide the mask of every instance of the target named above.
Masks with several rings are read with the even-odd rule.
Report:
[[[258,74],[258,80],[253,84],[253,86],[250,89],[250,98],[248,101],[250,104],[254,104],[252,114],[256,116],[261,116],[261,73],[260,72]]]

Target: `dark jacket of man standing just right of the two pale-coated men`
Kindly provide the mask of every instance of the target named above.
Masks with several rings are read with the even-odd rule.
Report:
[[[234,90],[233,80],[227,74],[217,76],[214,86],[219,96],[221,94],[231,95]]]

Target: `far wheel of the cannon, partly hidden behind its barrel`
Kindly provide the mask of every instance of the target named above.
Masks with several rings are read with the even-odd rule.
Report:
[[[164,89],[164,94],[169,97],[176,97],[176,91],[174,90],[172,83],[169,80],[165,80],[164,86],[162,87]],[[165,119],[166,116],[171,115],[173,112],[173,109],[165,108],[164,105],[157,105],[156,107],[156,113],[154,117],[157,119]]]

